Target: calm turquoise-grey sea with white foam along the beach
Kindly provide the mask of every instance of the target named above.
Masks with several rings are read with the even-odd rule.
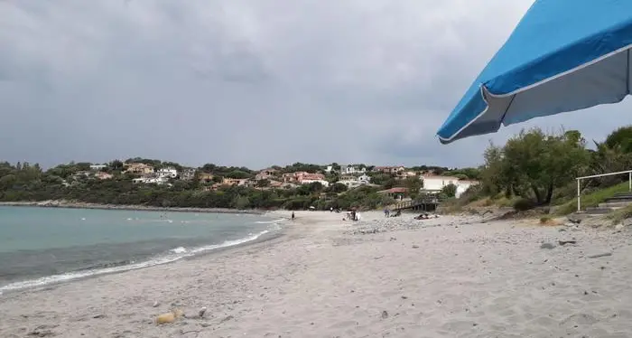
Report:
[[[0,206],[0,294],[136,268],[273,236],[254,214]]]

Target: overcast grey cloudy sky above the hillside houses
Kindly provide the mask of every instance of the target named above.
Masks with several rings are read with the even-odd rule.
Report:
[[[521,127],[601,139],[629,102],[442,146],[532,0],[0,0],[0,160],[476,165]]]

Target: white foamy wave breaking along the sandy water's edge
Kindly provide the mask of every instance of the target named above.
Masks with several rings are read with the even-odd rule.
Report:
[[[222,249],[229,248],[239,244],[244,244],[249,241],[256,240],[261,236],[269,233],[270,230],[280,230],[281,227],[278,223],[273,224],[274,227],[269,230],[263,230],[256,234],[250,233],[247,237],[243,239],[234,239],[234,240],[226,240],[221,244],[213,244],[199,248],[186,249],[183,247],[174,248],[168,251],[168,253],[155,257],[153,259],[149,259],[143,262],[136,263],[133,260],[108,263],[104,265],[99,265],[97,267],[91,268],[82,268],[77,271],[60,274],[60,275],[52,275],[47,277],[40,277],[31,280],[24,280],[21,282],[15,282],[6,286],[0,286],[0,295],[2,295],[6,291],[17,291],[23,290],[26,288],[37,287],[37,286],[46,286],[49,284],[57,284],[61,282],[68,282],[73,279],[83,278],[83,277],[93,277],[104,274],[111,274],[116,272],[124,272],[129,270],[135,270],[139,268],[149,268],[157,265],[163,265],[167,263],[172,263],[176,260],[180,260],[182,258],[188,258],[200,253],[213,250],[213,249]]]

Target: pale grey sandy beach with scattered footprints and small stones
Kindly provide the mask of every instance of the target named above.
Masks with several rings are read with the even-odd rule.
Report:
[[[269,241],[0,296],[0,336],[632,336],[626,229],[296,215]]]

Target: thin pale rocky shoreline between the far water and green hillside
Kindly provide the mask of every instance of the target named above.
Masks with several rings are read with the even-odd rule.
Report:
[[[237,209],[225,209],[225,208],[176,208],[176,207],[154,207],[154,206],[148,206],[148,205],[117,205],[117,204],[98,204],[98,203],[65,202],[65,201],[0,202],[0,206],[64,208],[64,209],[126,210],[126,211],[247,213],[247,214],[255,214],[255,215],[261,215],[268,212],[268,211],[263,211],[263,210],[237,210]]]

